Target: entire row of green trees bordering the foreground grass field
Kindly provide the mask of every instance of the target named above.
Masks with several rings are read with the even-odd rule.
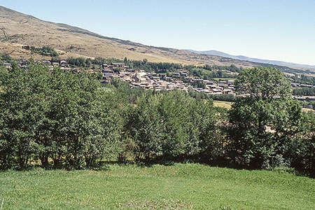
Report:
[[[32,162],[92,168],[110,158],[294,167],[314,175],[314,113],[290,99],[278,69],[241,71],[237,91],[248,97],[230,111],[190,92],[135,90],[120,80],[101,85],[91,73],[34,63],[27,71],[1,69],[0,87],[1,169]]]

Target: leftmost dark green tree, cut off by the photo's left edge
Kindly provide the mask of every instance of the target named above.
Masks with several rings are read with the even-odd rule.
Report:
[[[1,165],[9,167],[18,163],[24,168],[34,151],[34,127],[38,120],[34,116],[34,90],[31,77],[17,64],[5,76],[0,92],[1,115]]]

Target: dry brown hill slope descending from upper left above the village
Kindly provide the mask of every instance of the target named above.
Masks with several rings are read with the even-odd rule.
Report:
[[[85,29],[65,24],[47,22],[30,15],[18,13],[0,6],[0,28],[5,29],[7,37],[1,34],[0,48],[11,57],[29,58],[29,50],[22,45],[36,47],[48,45],[59,51],[61,57],[115,57],[123,59],[148,59],[151,62],[176,62],[181,64],[218,64],[251,67],[253,62],[230,59],[215,55],[200,55],[185,50],[158,48],[118,38],[94,34]],[[0,31],[1,32],[1,31]],[[44,59],[32,55],[34,59]],[[47,59],[47,57],[46,57]]]

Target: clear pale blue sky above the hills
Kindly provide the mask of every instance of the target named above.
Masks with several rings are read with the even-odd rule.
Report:
[[[0,0],[0,5],[146,45],[315,65],[315,0]]]

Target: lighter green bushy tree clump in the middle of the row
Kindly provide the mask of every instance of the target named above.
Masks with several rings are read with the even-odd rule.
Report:
[[[209,159],[216,129],[211,101],[197,100],[185,92],[144,94],[130,120],[130,136],[143,160]]]

